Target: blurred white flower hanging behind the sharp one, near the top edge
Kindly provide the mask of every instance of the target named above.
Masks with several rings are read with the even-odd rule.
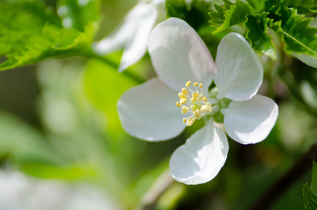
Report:
[[[118,29],[94,45],[94,51],[107,55],[123,49],[119,72],[138,62],[146,53],[148,36],[157,20],[158,8],[164,1],[139,1]]]

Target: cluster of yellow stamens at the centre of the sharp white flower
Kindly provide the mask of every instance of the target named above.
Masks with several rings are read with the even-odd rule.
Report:
[[[192,116],[183,118],[183,123],[187,126],[191,126],[195,120],[200,120],[203,116],[213,111],[211,103],[207,101],[207,97],[204,96],[202,91],[202,83],[199,83],[199,85],[197,82],[193,83],[194,90],[190,88],[191,83],[191,81],[188,81],[185,84],[182,92],[178,93],[179,102],[176,102],[176,106],[181,107],[181,113],[192,113]]]

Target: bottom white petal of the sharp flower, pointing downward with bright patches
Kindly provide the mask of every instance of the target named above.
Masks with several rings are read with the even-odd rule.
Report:
[[[188,185],[211,181],[225,164],[228,150],[225,132],[210,121],[173,153],[171,176]]]

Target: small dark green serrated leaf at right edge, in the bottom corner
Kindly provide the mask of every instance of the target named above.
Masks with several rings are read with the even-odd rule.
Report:
[[[311,186],[308,183],[304,184],[303,200],[304,207],[307,210],[317,209],[317,165],[313,163],[313,175],[311,178]]]

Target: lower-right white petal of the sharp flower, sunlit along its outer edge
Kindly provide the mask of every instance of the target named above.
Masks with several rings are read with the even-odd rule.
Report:
[[[255,144],[267,138],[279,115],[279,106],[269,97],[255,94],[244,102],[232,101],[223,109],[225,130],[240,144]]]

